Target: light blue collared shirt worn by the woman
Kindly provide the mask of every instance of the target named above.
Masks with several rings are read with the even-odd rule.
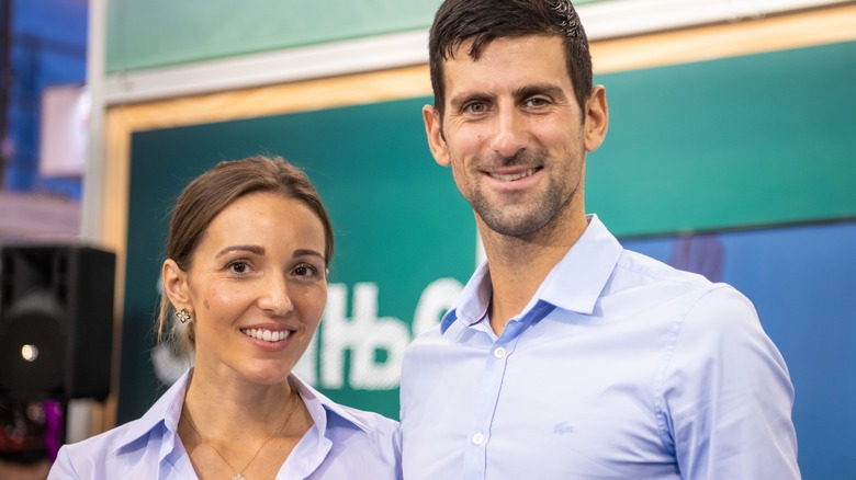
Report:
[[[140,419],[60,448],[48,479],[196,479],[177,433],[191,375],[185,373]],[[314,425],[278,480],[401,478],[397,422],[336,404],[292,379]]]

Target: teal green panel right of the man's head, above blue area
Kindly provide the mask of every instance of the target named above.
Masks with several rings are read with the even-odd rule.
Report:
[[[856,43],[600,76],[587,207],[621,236],[856,216]]]

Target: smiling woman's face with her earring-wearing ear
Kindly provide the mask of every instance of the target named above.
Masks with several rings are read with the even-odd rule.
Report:
[[[260,384],[288,377],[327,301],[325,240],[317,215],[281,194],[249,194],[214,217],[180,282],[198,372]]]

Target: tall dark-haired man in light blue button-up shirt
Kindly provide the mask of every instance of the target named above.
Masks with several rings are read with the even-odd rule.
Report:
[[[752,304],[585,214],[608,111],[571,3],[447,0],[429,50],[428,144],[487,262],[405,355],[405,478],[799,478]]]

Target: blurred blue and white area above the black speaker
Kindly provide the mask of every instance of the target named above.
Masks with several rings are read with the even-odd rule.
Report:
[[[89,134],[88,2],[3,0],[0,9],[0,241],[76,237]]]

